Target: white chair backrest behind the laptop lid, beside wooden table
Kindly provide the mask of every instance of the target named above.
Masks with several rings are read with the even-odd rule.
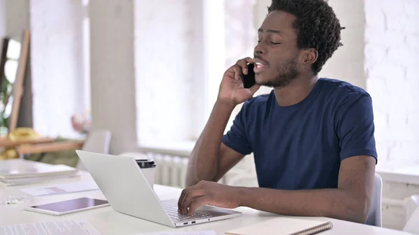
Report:
[[[94,153],[109,153],[111,133],[109,130],[91,130],[83,144],[83,151]],[[78,161],[77,169],[87,170],[82,161]]]

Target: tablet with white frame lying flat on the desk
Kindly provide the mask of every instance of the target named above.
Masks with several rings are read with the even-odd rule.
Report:
[[[48,215],[66,215],[69,213],[87,211],[89,209],[96,209],[103,206],[109,206],[109,202],[101,199],[80,197],[61,202],[53,202],[50,204],[30,206],[25,208],[24,210],[45,213]]]

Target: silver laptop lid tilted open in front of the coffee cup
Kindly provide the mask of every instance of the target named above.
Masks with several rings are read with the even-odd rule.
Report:
[[[115,211],[175,227],[133,158],[76,153]]]

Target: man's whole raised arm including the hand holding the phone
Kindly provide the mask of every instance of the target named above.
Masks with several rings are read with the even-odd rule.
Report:
[[[221,80],[219,96],[212,109],[210,119],[196,142],[189,158],[186,172],[186,186],[195,185],[200,181],[219,181],[226,172],[239,162],[245,154],[239,153],[221,143],[228,119],[237,104],[252,98],[259,86],[253,85],[244,89],[242,74],[247,74],[247,63],[251,58],[244,58],[226,70]],[[242,126],[240,122],[239,126]],[[235,144],[243,145],[243,130],[236,133]]]

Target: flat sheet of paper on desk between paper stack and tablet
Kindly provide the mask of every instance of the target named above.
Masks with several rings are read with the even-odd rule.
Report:
[[[31,188],[22,188],[22,192],[27,192],[33,196],[43,196],[43,195],[58,195],[69,192],[82,192],[89,190],[98,190],[98,185],[94,181],[82,182],[82,183],[66,183],[59,185],[50,185],[47,187],[31,187]]]

